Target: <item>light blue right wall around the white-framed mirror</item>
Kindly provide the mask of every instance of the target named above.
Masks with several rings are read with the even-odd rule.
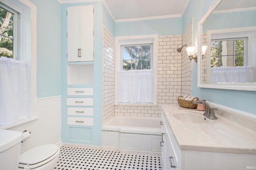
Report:
[[[183,31],[188,25],[188,22],[193,17],[193,43],[197,45],[197,24],[200,18],[204,16],[208,8],[214,0],[190,0],[188,7],[183,15]],[[256,92],[241,91],[241,90],[222,90],[222,89],[208,89],[197,87],[197,64],[193,61],[192,70],[192,95],[198,96],[201,99],[221,104],[234,109],[246,111],[248,113],[256,114],[255,100]]]

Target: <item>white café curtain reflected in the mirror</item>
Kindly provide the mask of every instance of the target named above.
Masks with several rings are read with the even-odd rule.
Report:
[[[252,66],[212,67],[211,82],[255,82],[255,72]]]

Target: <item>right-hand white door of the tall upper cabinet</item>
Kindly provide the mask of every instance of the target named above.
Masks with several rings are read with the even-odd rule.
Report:
[[[93,61],[93,5],[80,6],[80,61]]]

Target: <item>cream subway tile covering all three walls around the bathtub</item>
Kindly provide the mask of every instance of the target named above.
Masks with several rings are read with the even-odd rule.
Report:
[[[185,41],[182,41],[182,37]],[[182,44],[192,44],[192,23],[183,35],[158,36],[157,104],[114,104],[114,37],[103,27],[103,123],[113,116],[161,117],[161,105],[191,94],[191,61]],[[184,51],[185,50],[185,51]],[[108,65],[110,64],[110,65]]]

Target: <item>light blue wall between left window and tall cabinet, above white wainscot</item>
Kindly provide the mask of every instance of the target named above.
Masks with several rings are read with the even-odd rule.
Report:
[[[30,0],[37,8],[37,98],[61,95],[61,5]]]

